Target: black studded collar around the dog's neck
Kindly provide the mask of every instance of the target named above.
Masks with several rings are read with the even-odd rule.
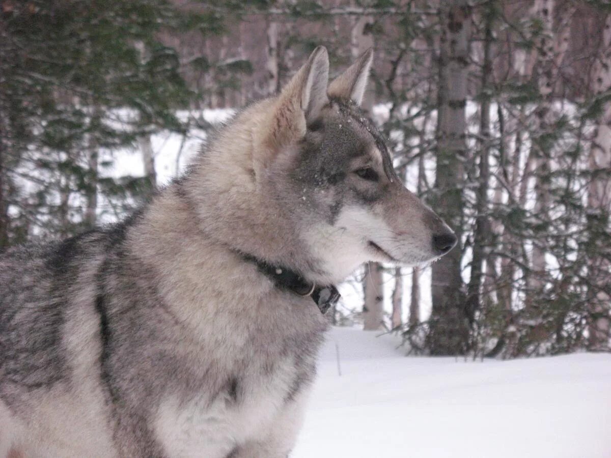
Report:
[[[271,278],[277,288],[288,289],[297,296],[312,297],[322,314],[326,313],[331,305],[337,304],[337,301],[342,297],[333,285],[318,286],[316,283],[308,282],[291,269],[269,264],[267,261],[246,253],[241,253],[241,255],[245,260],[257,264],[259,271]]]

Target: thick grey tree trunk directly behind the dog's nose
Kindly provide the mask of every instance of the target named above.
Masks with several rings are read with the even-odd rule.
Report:
[[[463,162],[467,154],[466,98],[470,9],[467,1],[443,2],[437,100],[437,169],[433,208],[458,236],[458,245],[433,264],[430,329],[426,344],[433,355],[464,354],[469,347],[469,316],[461,278]]]

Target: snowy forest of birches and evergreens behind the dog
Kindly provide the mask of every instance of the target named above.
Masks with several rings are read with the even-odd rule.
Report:
[[[364,108],[459,236],[431,266],[364,266],[330,319],[415,354],[609,351],[601,0],[3,0],[0,250],[125,217],[163,184],[156,136],[180,173],[214,110],[276,93],[317,45],[332,73],[373,46]]]

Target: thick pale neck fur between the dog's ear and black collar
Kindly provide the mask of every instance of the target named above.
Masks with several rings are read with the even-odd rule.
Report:
[[[284,205],[283,196],[253,174],[251,137],[258,128],[257,111],[265,107],[236,115],[231,123],[240,134],[222,130],[197,156],[190,172],[174,184],[180,200],[191,203],[189,211],[203,233],[219,244],[288,267],[316,283],[336,282],[340,278],[324,269],[303,240],[294,206]]]

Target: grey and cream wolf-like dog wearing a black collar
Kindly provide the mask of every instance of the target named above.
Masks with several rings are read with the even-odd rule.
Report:
[[[456,237],[318,47],[129,219],[0,258],[0,457],[287,457],[333,286]]]

